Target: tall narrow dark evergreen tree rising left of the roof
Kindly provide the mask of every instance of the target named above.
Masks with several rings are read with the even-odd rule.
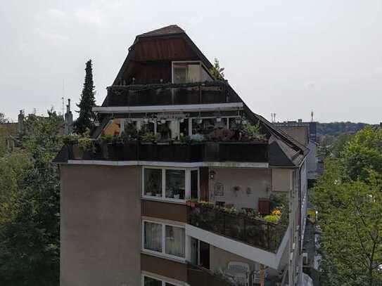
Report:
[[[81,100],[77,104],[79,117],[73,124],[77,134],[84,134],[87,129],[92,129],[94,126],[95,115],[91,108],[96,105],[95,93],[91,60],[88,60],[85,68],[84,89],[82,89]]]

